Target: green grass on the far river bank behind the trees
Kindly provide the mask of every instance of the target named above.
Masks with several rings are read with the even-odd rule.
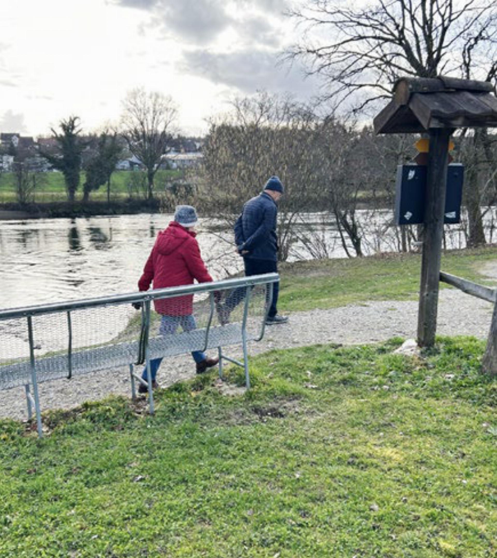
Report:
[[[132,175],[132,171],[115,171],[110,179],[110,198],[113,200],[127,199],[127,184]],[[155,193],[160,194],[164,191],[166,180],[172,180],[181,175],[181,171],[157,171],[155,179]],[[56,201],[67,201],[64,176],[61,172],[45,172],[41,175],[42,184],[35,192],[36,203],[50,203]],[[85,173],[81,172],[79,190],[76,199],[83,197],[83,184]],[[136,193],[133,194],[135,197]],[[107,200],[107,185],[100,186],[99,190],[90,194],[90,200]],[[17,201],[14,176],[6,173],[0,176],[0,203],[13,203]]]

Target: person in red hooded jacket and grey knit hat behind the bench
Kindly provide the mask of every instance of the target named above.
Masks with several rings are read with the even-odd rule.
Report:
[[[166,230],[161,230],[152,252],[143,268],[143,275],[138,281],[140,291],[148,291],[153,281],[153,288],[176,287],[192,285],[195,280],[207,283],[213,280],[206,270],[200,255],[199,243],[195,239],[197,214],[191,205],[178,205],[174,220]],[[196,329],[193,315],[193,295],[177,296],[172,299],[157,299],[153,301],[155,310],[162,315],[159,333],[172,335],[181,325],[183,331]],[[218,358],[208,358],[201,351],[193,351],[192,357],[196,362],[197,374],[218,364]],[[156,374],[162,358],[150,361],[152,387],[157,387]],[[143,370],[142,378],[147,381],[147,368]],[[146,393],[147,388],[140,384],[138,391]]]

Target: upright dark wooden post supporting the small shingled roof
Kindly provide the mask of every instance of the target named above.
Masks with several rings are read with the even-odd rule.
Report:
[[[430,130],[419,287],[419,347],[432,347],[437,331],[438,281],[447,183],[448,140],[451,132],[450,128]]]

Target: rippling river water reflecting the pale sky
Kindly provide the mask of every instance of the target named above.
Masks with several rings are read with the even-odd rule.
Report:
[[[304,216],[315,228],[302,238],[307,235],[309,240],[317,232],[329,247],[327,256],[344,257],[336,229],[322,224],[319,215]],[[365,253],[393,249],[391,218],[391,211],[374,218],[364,212],[363,221],[369,226]],[[138,214],[0,221],[0,309],[136,291],[157,232],[171,219],[172,215]],[[197,239],[211,275],[220,279],[238,271],[242,261],[231,244],[233,235],[213,232],[213,224],[200,219]],[[460,233],[451,238],[451,247],[461,247]],[[309,243],[301,239],[289,259],[312,257]]]

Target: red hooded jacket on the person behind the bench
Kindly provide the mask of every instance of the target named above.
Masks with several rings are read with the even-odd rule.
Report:
[[[196,233],[175,221],[171,221],[166,230],[161,230],[138,281],[139,290],[148,291],[152,280],[153,288],[192,285],[195,279],[199,283],[212,281],[195,237]],[[193,295],[155,300],[154,305],[159,314],[186,316],[193,312]]]

